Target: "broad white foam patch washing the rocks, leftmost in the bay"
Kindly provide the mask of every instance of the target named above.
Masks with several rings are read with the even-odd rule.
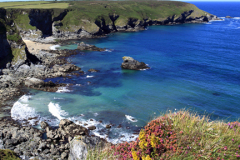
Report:
[[[31,98],[31,96],[23,95],[17,102],[13,104],[11,109],[11,117],[14,120],[27,120],[28,118],[39,117],[34,108],[29,107],[28,104],[25,104],[28,102],[29,98]]]

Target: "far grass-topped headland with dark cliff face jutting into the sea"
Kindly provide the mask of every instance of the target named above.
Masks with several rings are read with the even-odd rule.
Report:
[[[68,9],[17,9],[12,12],[23,38],[78,39],[151,25],[204,23],[217,19],[184,2],[71,2]]]

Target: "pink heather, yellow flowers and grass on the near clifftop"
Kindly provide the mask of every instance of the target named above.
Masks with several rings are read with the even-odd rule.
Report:
[[[206,116],[179,111],[149,122],[136,141],[112,146],[113,155],[107,149],[98,154],[134,160],[238,159],[239,134],[239,122],[210,121]],[[94,156],[92,152],[89,157]]]

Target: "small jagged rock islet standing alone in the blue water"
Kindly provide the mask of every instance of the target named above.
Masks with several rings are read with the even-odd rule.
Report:
[[[139,62],[133,59],[132,57],[124,56],[121,68],[131,70],[142,70],[149,69],[150,67],[148,67],[147,64],[145,64],[144,62]]]

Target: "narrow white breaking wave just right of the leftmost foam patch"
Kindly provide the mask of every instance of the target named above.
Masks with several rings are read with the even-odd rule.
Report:
[[[68,115],[66,111],[61,110],[61,106],[57,103],[50,102],[48,104],[48,110],[54,117],[57,117],[59,120],[64,119],[63,116]]]

